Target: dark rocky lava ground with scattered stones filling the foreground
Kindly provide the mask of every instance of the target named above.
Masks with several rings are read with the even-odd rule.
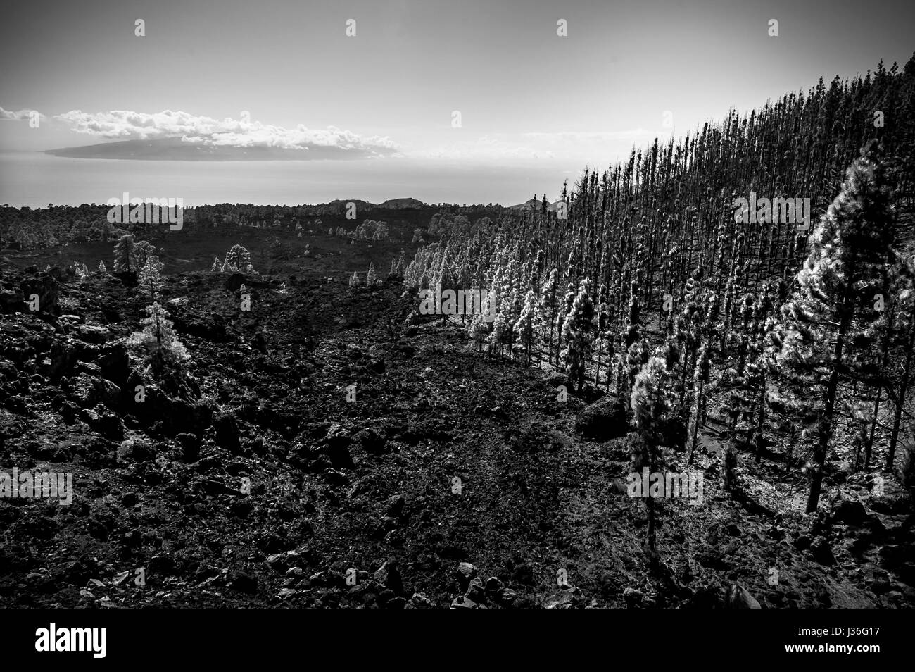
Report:
[[[191,362],[166,381],[124,345],[144,301],[118,277],[10,265],[0,285],[0,469],[75,487],[0,499],[0,605],[915,604],[910,493],[834,471],[802,515],[798,483],[745,456],[737,502],[714,426],[704,504],[665,504],[651,569],[616,401],[562,401],[556,374],[456,324],[407,326],[394,280],[171,274]]]

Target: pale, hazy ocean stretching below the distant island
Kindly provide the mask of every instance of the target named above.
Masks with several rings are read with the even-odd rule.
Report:
[[[565,168],[565,169],[564,169]],[[571,169],[568,169],[571,168]],[[335,199],[513,205],[543,194],[555,201],[582,167],[532,160],[474,165],[382,158],[323,161],[125,161],[0,152],[0,203],[31,208],[121,198],[183,198],[184,204],[299,205]]]

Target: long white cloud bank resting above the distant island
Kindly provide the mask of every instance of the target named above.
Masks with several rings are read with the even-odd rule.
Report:
[[[71,110],[57,114],[54,119],[76,133],[112,140],[148,140],[181,138],[184,142],[203,146],[274,147],[277,149],[307,149],[335,147],[373,155],[391,155],[398,146],[389,137],[362,137],[335,126],[325,129],[295,128],[267,125],[247,119],[225,118],[221,121],[207,116],[165,110],[154,114],[113,110],[86,113]]]

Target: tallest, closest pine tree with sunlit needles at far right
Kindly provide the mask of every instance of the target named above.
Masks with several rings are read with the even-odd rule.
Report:
[[[893,257],[894,212],[885,168],[869,144],[845,173],[841,193],[813,232],[811,251],[796,276],[773,334],[776,361],[790,380],[791,406],[813,418],[807,512],[816,511],[833,439],[841,379],[856,376],[874,343],[874,296]]]

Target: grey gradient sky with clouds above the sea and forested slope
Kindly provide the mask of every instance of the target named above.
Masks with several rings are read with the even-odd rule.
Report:
[[[0,150],[168,136],[331,145],[432,169],[441,161],[577,173],[586,164],[606,167],[655,136],[684,135],[731,107],[807,91],[821,75],[863,74],[881,59],[901,65],[915,49],[912,6],[16,3],[0,22]],[[778,37],[769,35],[773,18]],[[144,37],[135,35],[137,19]],[[565,36],[557,34],[561,20]],[[28,124],[31,110],[42,115],[38,128]]]

